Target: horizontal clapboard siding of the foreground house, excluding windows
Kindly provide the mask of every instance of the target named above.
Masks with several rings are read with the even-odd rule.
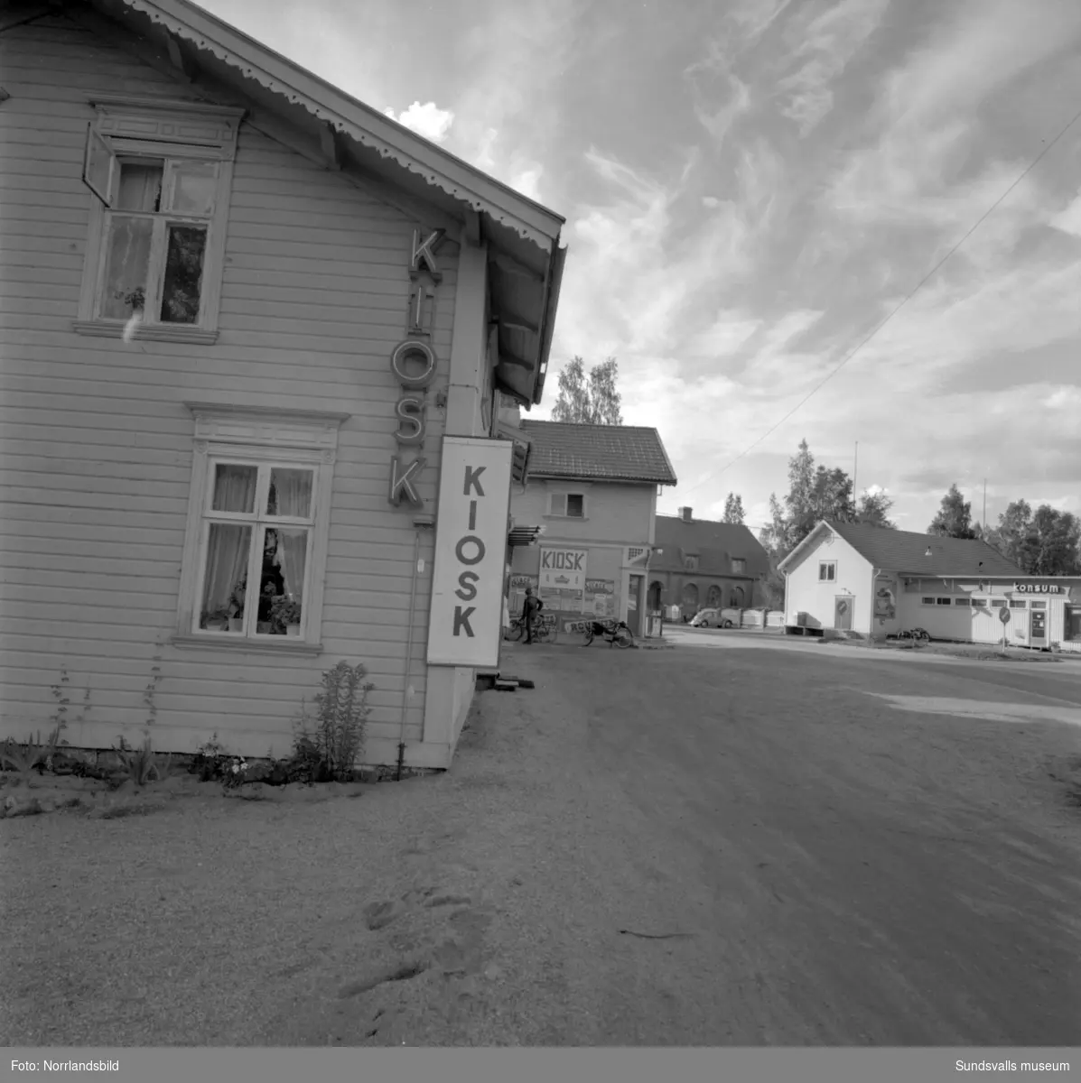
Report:
[[[152,667],[155,744],[191,751],[213,731],[232,751],[284,754],[301,697],[339,658],[375,689],[372,745],[396,745],[413,577],[412,517],[387,503],[401,392],[406,266],[421,226],[340,175],[242,126],[218,341],[78,335],[92,196],[81,182],[95,92],[191,91],[63,17],[0,36],[12,95],[0,109],[0,648],[4,732],[48,728],[65,667],[67,739],[138,739]],[[448,376],[455,246],[441,249],[433,345]],[[180,648],[174,630],[193,461],[185,401],[348,412],[334,474],[321,656]],[[428,410],[419,490],[434,507],[442,416]],[[408,457],[408,456],[407,456]],[[428,566],[432,539],[421,545]],[[406,740],[419,741],[428,583],[418,584]]]

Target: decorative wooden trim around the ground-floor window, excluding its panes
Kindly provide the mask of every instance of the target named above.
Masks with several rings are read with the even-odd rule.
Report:
[[[194,419],[192,484],[184,532],[177,626],[172,642],[178,647],[210,647],[214,650],[264,651],[317,654],[322,650],[323,588],[330,529],[330,498],[337,461],[338,433],[349,414],[320,410],[242,407],[209,403],[185,403]],[[203,524],[207,506],[210,468],[217,458],[243,457],[252,462],[282,466],[312,465],[316,468],[313,491],[311,567],[304,598],[304,635],[278,639],[222,635],[195,628],[203,573]]]

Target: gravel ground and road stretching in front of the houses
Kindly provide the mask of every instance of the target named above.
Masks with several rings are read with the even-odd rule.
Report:
[[[513,644],[446,775],[4,820],[0,1032],[1081,1044],[1081,682],[1025,668]]]

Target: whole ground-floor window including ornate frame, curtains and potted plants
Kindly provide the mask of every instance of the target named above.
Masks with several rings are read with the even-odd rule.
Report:
[[[317,645],[342,416],[192,408],[181,639]]]

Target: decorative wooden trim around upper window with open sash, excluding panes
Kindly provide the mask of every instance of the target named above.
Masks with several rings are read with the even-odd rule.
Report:
[[[87,235],[79,314],[73,323],[78,335],[120,338],[126,319],[110,319],[97,314],[97,304],[108,258],[106,244],[107,206],[115,181],[116,157],[134,155],[162,158],[194,157],[218,165],[213,213],[207,221],[207,242],[203,264],[203,289],[197,324],[139,322],[131,337],[159,342],[211,344],[218,338],[221,285],[225,270],[225,235],[230,198],[233,190],[233,161],[236,139],[245,110],[231,106],[207,105],[147,95],[96,94],[90,100],[94,119],[87,132],[83,180],[91,190],[90,224]],[[94,148],[113,157],[106,192],[89,175]],[[178,216],[183,218],[183,216]]]

